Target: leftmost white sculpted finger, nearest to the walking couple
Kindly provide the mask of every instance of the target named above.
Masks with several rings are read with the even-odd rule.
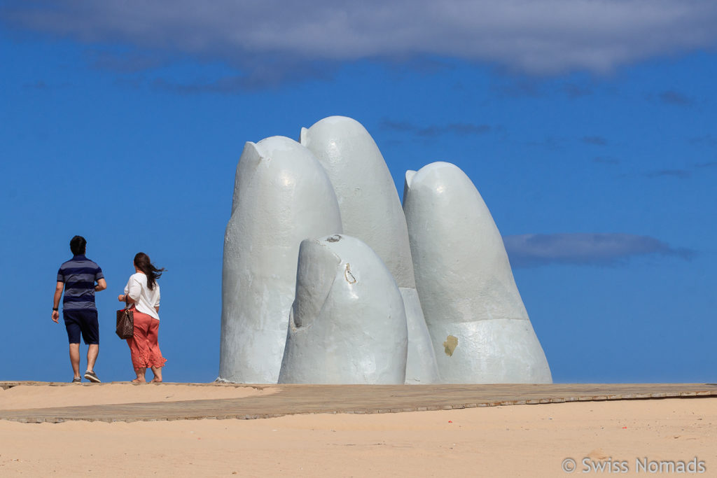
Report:
[[[220,379],[277,383],[299,245],[341,232],[331,181],[308,149],[282,136],[244,146],[224,236]]]

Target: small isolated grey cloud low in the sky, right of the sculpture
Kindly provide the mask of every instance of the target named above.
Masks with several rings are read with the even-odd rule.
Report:
[[[522,234],[503,237],[514,267],[546,264],[611,265],[647,254],[691,259],[690,249],[675,249],[635,234]]]

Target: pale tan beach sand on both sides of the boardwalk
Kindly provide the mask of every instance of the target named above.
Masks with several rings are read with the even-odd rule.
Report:
[[[184,385],[18,386],[0,391],[0,410],[268,393]],[[256,420],[0,420],[0,475],[717,476],[716,429],[717,398]],[[572,473],[563,469],[571,469],[566,459],[574,460]],[[681,466],[684,473],[668,473]]]

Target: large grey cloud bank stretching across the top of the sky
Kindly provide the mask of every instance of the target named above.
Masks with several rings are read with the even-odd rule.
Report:
[[[702,0],[6,1],[11,27],[224,59],[455,57],[539,75],[713,48]]]

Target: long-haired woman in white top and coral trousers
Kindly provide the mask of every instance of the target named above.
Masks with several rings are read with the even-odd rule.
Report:
[[[117,298],[131,305],[134,313],[134,336],[127,339],[132,365],[137,378],[133,383],[146,383],[145,373],[151,368],[152,382],[162,381],[162,367],[167,361],[159,350],[159,285],[157,279],[164,269],[157,269],[144,252],[134,258],[135,274],[130,276],[125,293]]]

